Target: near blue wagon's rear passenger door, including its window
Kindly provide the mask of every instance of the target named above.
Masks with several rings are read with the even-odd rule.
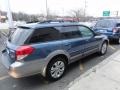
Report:
[[[81,58],[84,53],[85,41],[82,39],[78,26],[64,26],[60,32],[63,38],[63,47],[70,55],[70,62]]]

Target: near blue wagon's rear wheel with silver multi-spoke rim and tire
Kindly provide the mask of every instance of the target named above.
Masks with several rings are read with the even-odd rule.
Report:
[[[66,72],[67,63],[63,57],[53,58],[47,66],[46,79],[48,81],[59,80]]]

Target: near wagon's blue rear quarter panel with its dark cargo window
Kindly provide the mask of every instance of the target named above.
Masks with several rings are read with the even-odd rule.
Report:
[[[43,27],[36,29],[29,40],[29,44],[35,48],[33,55],[26,60],[46,58],[50,53],[61,50],[59,31],[54,27]]]

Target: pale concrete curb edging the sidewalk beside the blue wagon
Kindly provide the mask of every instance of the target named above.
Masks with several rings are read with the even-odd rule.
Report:
[[[101,63],[99,63],[98,65],[94,66],[90,70],[86,71],[84,74],[80,75],[80,77],[76,78],[74,81],[70,82],[68,84],[68,86],[65,87],[64,90],[68,90],[72,85],[74,85],[75,83],[80,81],[82,78],[89,76],[92,72],[96,72],[97,69],[100,69],[102,66],[106,65],[107,63],[109,63],[109,61],[112,61],[112,58],[115,58],[115,56],[118,53],[120,53],[120,50],[118,50],[117,52],[113,53],[111,56],[109,56],[108,58],[104,59]]]

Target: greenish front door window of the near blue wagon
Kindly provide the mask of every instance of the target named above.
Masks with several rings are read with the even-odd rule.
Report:
[[[82,37],[92,37],[93,36],[93,32],[87,27],[79,26],[79,30],[82,34]]]

